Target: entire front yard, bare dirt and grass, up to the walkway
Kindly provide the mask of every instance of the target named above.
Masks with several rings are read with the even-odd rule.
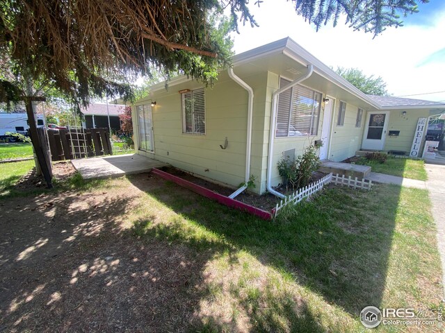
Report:
[[[147,174],[1,204],[1,244],[17,239],[1,258],[6,330],[365,332],[368,305],[425,318],[443,298],[421,189],[327,188],[276,221]]]

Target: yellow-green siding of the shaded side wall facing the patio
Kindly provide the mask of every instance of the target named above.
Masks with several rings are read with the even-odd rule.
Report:
[[[257,177],[259,191],[261,161],[264,154],[264,104],[267,73],[243,78],[254,89],[251,174]],[[188,81],[154,92],[154,153],[138,151],[156,160],[167,162],[204,178],[238,187],[245,178],[248,92],[229,78],[218,77],[218,83],[205,89],[206,134],[182,133],[181,89],[196,89],[199,84]],[[136,105],[149,103],[138,101]],[[136,115],[133,112],[133,120]],[[135,122],[136,123],[136,122]],[[137,126],[135,138],[137,141]],[[225,137],[228,140],[226,149]],[[137,145],[136,145],[136,148]]]

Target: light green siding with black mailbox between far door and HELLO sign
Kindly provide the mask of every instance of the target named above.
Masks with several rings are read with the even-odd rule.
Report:
[[[402,112],[406,114],[403,115]],[[391,110],[389,112],[389,123],[387,137],[385,139],[385,151],[405,151],[406,155],[410,154],[414,133],[416,131],[417,121],[419,118],[430,116],[428,109],[422,110]],[[390,137],[390,130],[400,130],[398,137]],[[423,137],[426,135],[423,133]],[[421,151],[423,150],[424,139],[421,143]]]

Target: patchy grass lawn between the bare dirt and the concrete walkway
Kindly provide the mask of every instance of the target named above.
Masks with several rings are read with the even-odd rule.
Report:
[[[435,224],[426,207],[420,189],[333,188],[270,223],[168,184],[148,191],[129,221],[138,239],[208,253],[195,330],[357,332],[368,305],[440,306]]]

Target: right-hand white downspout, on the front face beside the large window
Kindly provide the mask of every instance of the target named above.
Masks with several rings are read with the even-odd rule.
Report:
[[[297,78],[296,80],[289,83],[289,85],[285,85],[284,87],[281,87],[276,92],[272,94],[272,112],[270,113],[270,131],[269,131],[269,150],[268,150],[268,157],[267,157],[267,178],[266,178],[266,188],[275,196],[278,196],[280,198],[285,198],[284,194],[281,194],[280,192],[275,191],[275,189],[272,188],[271,178],[272,178],[272,159],[273,159],[273,143],[275,141],[275,125],[277,123],[277,107],[278,107],[278,95],[280,95],[285,90],[293,87],[294,85],[298,85],[298,83],[306,80],[309,78],[309,76],[312,75],[312,71],[314,70],[314,66],[308,65],[307,66],[307,73]]]

